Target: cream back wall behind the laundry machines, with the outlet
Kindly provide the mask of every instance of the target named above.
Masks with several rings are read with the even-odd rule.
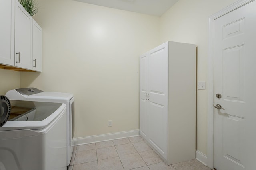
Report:
[[[21,87],[73,93],[75,137],[139,129],[138,56],[159,44],[160,18],[72,0],[39,6],[43,71],[22,72]]]

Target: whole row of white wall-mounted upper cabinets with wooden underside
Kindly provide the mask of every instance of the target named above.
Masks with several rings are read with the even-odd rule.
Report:
[[[42,71],[42,28],[18,0],[0,1],[0,65]]]

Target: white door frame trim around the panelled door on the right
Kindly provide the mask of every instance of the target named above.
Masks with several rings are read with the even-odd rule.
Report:
[[[213,14],[208,19],[208,128],[207,166],[214,169],[214,20],[254,0],[238,0],[234,4]]]

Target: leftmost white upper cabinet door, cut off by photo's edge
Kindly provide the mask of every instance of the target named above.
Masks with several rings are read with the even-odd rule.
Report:
[[[0,0],[0,63],[14,65],[14,0]]]

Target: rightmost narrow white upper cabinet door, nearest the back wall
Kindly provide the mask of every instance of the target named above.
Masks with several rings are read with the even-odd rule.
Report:
[[[33,20],[33,69],[42,71],[42,28]]]

